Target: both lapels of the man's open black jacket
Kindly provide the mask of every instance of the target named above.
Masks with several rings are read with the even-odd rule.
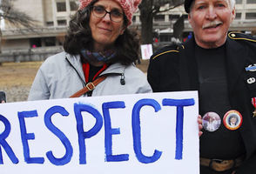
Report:
[[[194,37],[185,43],[179,59],[179,74],[181,90],[199,90],[199,74],[195,58]],[[245,53],[243,46],[227,37],[226,39],[226,73],[229,92],[232,92],[242,70],[245,68]]]

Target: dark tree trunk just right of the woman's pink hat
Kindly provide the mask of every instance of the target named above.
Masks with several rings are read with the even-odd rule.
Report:
[[[153,0],[143,0],[139,5],[140,22],[141,22],[141,43],[152,43],[153,39]]]

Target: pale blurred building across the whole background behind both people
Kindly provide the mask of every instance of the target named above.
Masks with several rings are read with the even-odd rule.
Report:
[[[236,1],[237,15],[230,30],[255,34],[256,0]],[[41,60],[63,50],[64,35],[71,15],[78,8],[78,0],[16,0],[14,6],[37,20],[37,28],[33,31],[17,29],[10,26],[9,23],[5,23],[4,30],[2,30],[2,54],[0,57],[19,61],[20,57],[30,59],[37,55],[37,59]],[[162,7],[162,9],[167,8],[169,8],[168,5]],[[159,43],[171,41],[174,23],[181,16],[185,20],[183,37],[187,37],[192,28],[188,23],[183,6],[154,17],[154,30]],[[132,20],[132,25],[140,28],[139,12]]]

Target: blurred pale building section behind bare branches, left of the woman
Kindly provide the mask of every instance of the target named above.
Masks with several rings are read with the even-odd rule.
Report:
[[[37,20],[37,28],[16,29],[5,23],[2,50],[61,45],[77,0],[17,0],[14,7]]]

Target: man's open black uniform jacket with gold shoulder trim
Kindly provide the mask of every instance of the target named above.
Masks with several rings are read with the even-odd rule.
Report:
[[[158,50],[150,60],[147,72],[148,81],[154,92],[199,90],[199,75],[195,59],[195,41],[185,44],[169,45]],[[256,117],[253,117],[251,98],[256,97],[256,71],[246,70],[256,65],[256,39],[238,32],[228,33],[226,39],[226,76],[228,96],[232,109],[243,116],[239,128],[246,146],[246,161],[237,174],[256,172]],[[252,82],[252,81],[251,81]]]

